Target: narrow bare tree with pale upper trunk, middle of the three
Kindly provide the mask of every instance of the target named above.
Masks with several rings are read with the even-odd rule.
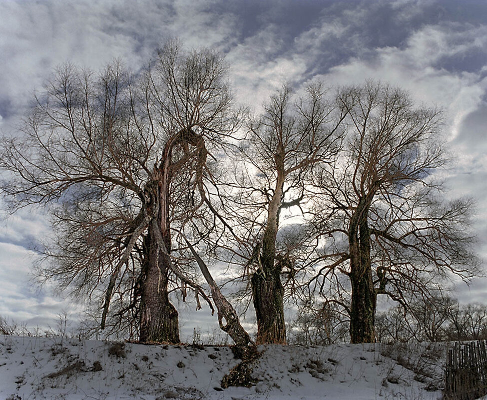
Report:
[[[289,248],[276,244],[280,215],[303,201],[304,177],[313,165],[336,155],[343,115],[335,111],[320,84],[296,101],[285,86],[271,96],[263,114],[249,122],[240,146],[244,162],[232,185],[239,189],[233,215],[243,232],[240,243],[251,245],[246,257],[258,344],[286,343],[281,273],[292,274],[294,267]]]

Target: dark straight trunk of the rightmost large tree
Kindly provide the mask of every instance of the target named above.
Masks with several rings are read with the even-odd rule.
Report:
[[[377,295],[372,281],[370,259],[370,230],[367,223],[368,207],[363,202],[350,226],[350,339],[352,343],[375,342],[375,312]]]

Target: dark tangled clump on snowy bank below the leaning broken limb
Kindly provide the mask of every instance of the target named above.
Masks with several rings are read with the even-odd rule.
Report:
[[[231,346],[235,358],[242,361],[233,367],[228,374],[226,374],[222,381],[221,387],[226,389],[230,386],[243,386],[250,388],[257,382],[256,378],[252,377],[252,364],[260,357],[256,346]]]

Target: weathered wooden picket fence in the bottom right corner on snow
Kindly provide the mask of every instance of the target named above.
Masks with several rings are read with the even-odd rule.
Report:
[[[455,342],[447,354],[443,399],[474,400],[486,394],[486,341]]]

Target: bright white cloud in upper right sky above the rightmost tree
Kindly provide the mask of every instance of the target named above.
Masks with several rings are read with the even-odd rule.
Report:
[[[403,87],[417,101],[446,109],[451,126],[449,136],[453,139],[459,134],[464,117],[480,105],[487,80],[481,79],[480,71],[452,72],[436,64],[443,57],[484,42],[487,42],[487,27],[458,33],[443,26],[427,26],[414,32],[404,48],[378,48],[371,58],[353,57],[332,67],[322,78],[339,85],[375,79]]]

